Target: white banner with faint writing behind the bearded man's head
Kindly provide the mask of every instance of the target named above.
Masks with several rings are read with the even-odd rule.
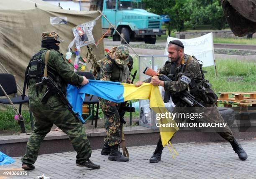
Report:
[[[197,60],[202,61],[203,66],[215,65],[212,33],[191,39],[178,39],[168,36],[164,53],[166,55],[168,55],[167,47],[171,40],[180,40],[184,45],[184,53],[194,55]]]

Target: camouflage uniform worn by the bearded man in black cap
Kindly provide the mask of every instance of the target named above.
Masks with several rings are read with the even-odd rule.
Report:
[[[184,73],[182,73],[182,76],[185,76],[185,78],[188,77],[188,79],[190,78],[191,81],[195,80],[196,83],[202,81],[202,79],[203,79],[202,73],[200,71],[200,67],[199,67],[199,63],[198,63],[197,59],[194,57],[192,58],[190,55],[184,54],[182,61],[187,61],[187,65],[184,68],[185,70],[184,70]],[[159,74],[165,74],[165,75],[173,74],[173,73],[171,73],[173,63],[176,63],[176,62],[172,62],[171,60],[166,61],[164,67],[160,69]],[[180,70],[181,70],[181,66],[175,66],[175,68],[173,70],[174,74],[175,74],[173,81],[172,82],[164,81],[164,89],[171,91],[172,101],[175,103],[175,107],[174,107],[174,110],[172,111],[172,113],[176,113],[176,112],[184,113],[184,111],[186,111],[186,110],[190,110],[190,112],[191,112],[191,109],[192,109],[191,107],[186,108],[185,106],[187,106],[187,103],[180,100],[179,96],[176,96],[176,94],[178,92],[187,89],[187,83],[184,83],[183,80],[179,79],[178,73],[180,72]],[[151,78],[145,80],[145,82],[148,82],[148,83],[150,81],[151,81]],[[190,90],[192,90],[192,89],[190,88]],[[195,98],[197,101],[200,101],[200,103],[202,103],[203,106],[207,107],[207,109],[203,111],[204,112],[204,116],[203,116],[204,122],[209,122],[209,123],[224,122],[224,120],[223,120],[222,116],[220,115],[220,113],[218,112],[218,108],[215,106],[215,104],[204,103],[200,96],[195,96]],[[182,107],[184,107],[184,108],[182,108]],[[199,109],[201,109],[200,112],[199,112]],[[201,113],[202,112],[202,108],[195,108],[195,110],[198,110],[198,111],[193,111],[193,113]],[[181,122],[181,121],[177,121],[177,122]],[[218,131],[217,133],[220,136],[222,136],[224,139],[226,139],[229,142],[233,142],[234,136],[233,136],[233,133],[232,133],[231,129],[229,128],[229,126],[226,126],[221,129],[219,129],[219,128],[214,128],[214,129],[216,129],[216,131]],[[159,139],[159,141],[161,141],[161,139]]]

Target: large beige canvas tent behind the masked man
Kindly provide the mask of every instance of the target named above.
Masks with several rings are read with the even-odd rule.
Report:
[[[41,47],[42,32],[55,31],[59,34],[64,40],[60,51],[65,56],[69,43],[74,39],[72,28],[99,15],[97,11],[63,10],[41,0],[0,0],[0,62],[9,73],[15,75],[22,87],[28,62]],[[52,25],[50,17],[66,17],[67,24]],[[97,20],[92,33],[97,42],[102,36],[101,18]],[[103,58],[103,40],[97,48],[95,45],[90,47],[97,59]],[[81,55],[85,57],[86,53],[87,48],[82,47]],[[87,63],[86,71],[89,70],[90,64]]]

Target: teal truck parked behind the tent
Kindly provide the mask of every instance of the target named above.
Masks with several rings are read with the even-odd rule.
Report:
[[[100,7],[101,6],[101,7]],[[144,41],[145,43],[156,43],[156,35],[166,34],[161,30],[160,15],[148,13],[142,9],[141,0],[103,0],[100,5],[102,13],[115,26],[124,39],[130,41]],[[102,17],[103,33],[109,32],[105,37],[112,36],[113,41],[125,41],[104,17]]]

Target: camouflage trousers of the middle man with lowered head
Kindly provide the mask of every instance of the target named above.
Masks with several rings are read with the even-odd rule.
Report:
[[[106,99],[99,98],[99,103],[104,113],[105,129],[107,133],[104,141],[109,146],[120,144],[120,117],[118,108],[116,106],[110,106],[110,101]]]

